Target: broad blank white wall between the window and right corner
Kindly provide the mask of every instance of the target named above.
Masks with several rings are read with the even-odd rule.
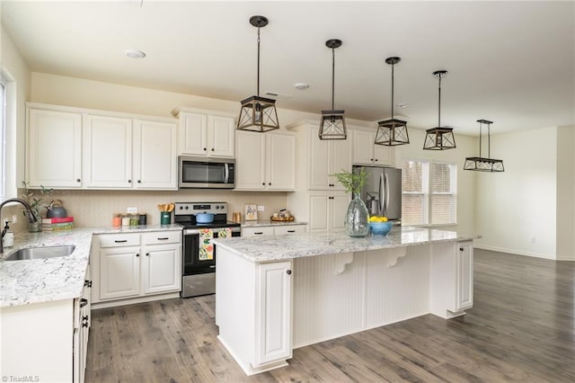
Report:
[[[505,172],[476,174],[475,229],[482,238],[475,245],[555,258],[556,150],[554,127],[491,136],[491,157],[503,160]]]

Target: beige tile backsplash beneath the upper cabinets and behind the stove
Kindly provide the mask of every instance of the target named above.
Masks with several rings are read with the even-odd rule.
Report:
[[[22,190],[19,191],[19,194]],[[74,217],[76,227],[111,226],[113,213],[125,213],[128,207],[136,207],[138,213],[147,214],[148,225],[160,223],[160,210],[157,205],[169,202],[219,202],[228,203],[228,218],[234,211],[242,212],[246,204],[265,207],[259,212],[260,219],[269,219],[274,212],[286,208],[286,192],[258,191],[219,191],[208,189],[190,189],[179,191],[76,191],[57,190],[49,200],[61,200],[68,216]],[[18,222],[13,225],[15,232],[26,231],[27,221],[22,216],[22,206],[3,209],[3,218],[11,219],[17,215]]]

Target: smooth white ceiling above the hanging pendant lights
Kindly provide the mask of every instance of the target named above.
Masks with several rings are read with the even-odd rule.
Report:
[[[261,14],[261,95],[278,108],[335,109],[375,121],[441,125],[477,135],[575,125],[575,3],[561,2],[2,2],[2,24],[31,71],[238,102],[256,93]],[[125,49],[146,52],[128,58]],[[298,90],[296,83],[309,88]],[[271,97],[273,98],[273,97]],[[192,106],[192,105],[190,105]],[[281,122],[281,121],[280,121]]]

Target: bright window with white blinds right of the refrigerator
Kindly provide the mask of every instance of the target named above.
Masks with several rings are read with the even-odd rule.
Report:
[[[402,224],[457,223],[457,165],[404,160]]]

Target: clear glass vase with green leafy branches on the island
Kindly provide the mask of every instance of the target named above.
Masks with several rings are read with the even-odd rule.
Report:
[[[346,232],[353,237],[367,236],[369,233],[369,213],[366,204],[360,198],[361,189],[367,180],[365,169],[361,168],[357,173],[342,170],[340,173],[330,175],[341,183],[346,192],[352,192],[352,200],[349,202],[344,222]]]

